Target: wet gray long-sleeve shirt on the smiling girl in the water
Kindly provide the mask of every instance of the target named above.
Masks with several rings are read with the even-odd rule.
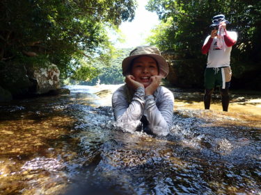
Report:
[[[134,132],[141,125],[144,115],[152,133],[168,135],[172,126],[173,106],[173,93],[162,86],[153,95],[145,96],[143,87],[132,95],[127,85],[122,85],[112,96],[114,118],[120,127],[129,132]]]

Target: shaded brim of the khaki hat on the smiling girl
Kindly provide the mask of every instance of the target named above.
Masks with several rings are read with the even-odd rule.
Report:
[[[138,58],[139,56],[150,56],[157,61],[157,65],[159,66],[159,75],[165,78],[168,75],[168,62],[166,59],[158,54],[146,54],[141,53],[138,55],[128,56],[124,60],[122,60],[122,74],[123,76],[127,76],[130,74],[130,65],[132,64],[132,60]]]

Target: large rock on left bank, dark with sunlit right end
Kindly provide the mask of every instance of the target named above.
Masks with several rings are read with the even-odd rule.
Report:
[[[25,67],[15,62],[0,62],[0,102],[38,94],[59,94],[60,71],[49,63],[45,67]]]

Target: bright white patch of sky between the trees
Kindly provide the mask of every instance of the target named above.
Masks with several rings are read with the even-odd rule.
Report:
[[[147,44],[145,38],[150,35],[150,30],[159,24],[159,19],[155,12],[145,10],[148,0],[138,0],[138,7],[132,22],[123,22],[120,25],[124,43],[116,42],[118,48],[134,48],[139,45]]]

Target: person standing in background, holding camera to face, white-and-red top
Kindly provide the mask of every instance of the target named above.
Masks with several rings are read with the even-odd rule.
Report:
[[[204,105],[209,109],[212,92],[215,87],[219,87],[222,97],[223,111],[228,112],[229,95],[228,88],[232,71],[230,69],[230,53],[232,46],[237,42],[237,33],[227,31],[226,24],[229,22],[225,15],[216,15],[212,20],[211,35],[205,39],[201,49],[203,54],[208,53],[207,67],[204,74]]]

